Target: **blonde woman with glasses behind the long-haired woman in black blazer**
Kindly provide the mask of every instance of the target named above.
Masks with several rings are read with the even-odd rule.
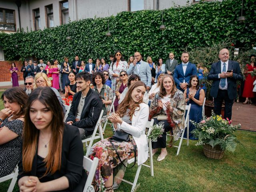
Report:
[[[34,89],[38,88],[38,87],[50,87],[54,93],[56,94],[62,108],[63,108],[63,112],[64,114],[66,113],[66,108],[63,104],[62,98],[60,96],[60,93],[58,92],[58,90],[56,90],[56,88],[52,87],[51,85],[51,81],[50,79],[47,77],[47,75],[45,73],[37,73],[35,76],[35,86]]]

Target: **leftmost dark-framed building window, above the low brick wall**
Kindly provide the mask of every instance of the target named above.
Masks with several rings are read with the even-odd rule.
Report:
[[[0,30],[16,31],[14,10],[0,8]]]

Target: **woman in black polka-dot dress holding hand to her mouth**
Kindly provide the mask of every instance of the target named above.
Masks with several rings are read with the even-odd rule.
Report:
[[[13,172],[20,159],[24,113],[28,96],[20,87],[4,91],[0,111],[0,177]]]

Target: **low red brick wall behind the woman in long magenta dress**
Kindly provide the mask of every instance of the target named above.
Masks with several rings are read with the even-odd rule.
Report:
[[[20,72],[20,69],[22,67],[21,61],[14,61],[16,64],[16,67],[18,68],[18,80],[23,80],[23,73]],[[0,61],[0,82],[10,82],[12,74],[10,72],[11,68],[11,61]]]

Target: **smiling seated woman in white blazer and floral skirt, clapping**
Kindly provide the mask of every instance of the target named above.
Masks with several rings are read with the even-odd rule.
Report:
[[[149,108],[148,105],[142,102],[143,96],[146,92],[146,85],[142,81],[132,84],[118,110],[112,114],[109,119],[113,123],[114,130],[123,130],[132,135],[131,142],[112,142],[119,152],[122,161],[134,157],[134,146],[137,147],[138,165],[144,163],[148,159],[148,143],[146,139],[146,123],[148,121]],[[92,183],[96,187],[96,183],[100,177],[104,179],[105,188],[107,192],[113,190],[113,178],[115,182],[120,184],[120,180],[124,176],[124,170],[118,172],[118,175],[113,176],[113,169],[116,166],[122,166],[116,151],[109,138],[101,140],[92,146],[90,151],[90,158],[99,158],[99,164],[96,170],[96,178]],[[124,166],[123,166],[124,167]],[[96,188],[95,188],[96,189]],[[96,189],[97,190],[97,189]]]

